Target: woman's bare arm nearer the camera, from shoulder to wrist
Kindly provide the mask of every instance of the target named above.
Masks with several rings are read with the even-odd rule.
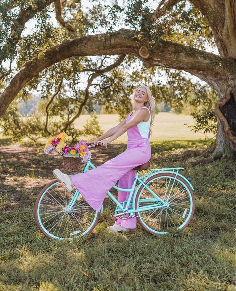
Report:
[[[134,125],[138,124],[139,122],[145,120],[147,117],[148,111],[139,109],[137,114],[127,123],[122,124],[116,132],[107,140],[108,143],[112,142],[113,140],[117,139],[119,136],[124,134],[129,128],[133,127]]]

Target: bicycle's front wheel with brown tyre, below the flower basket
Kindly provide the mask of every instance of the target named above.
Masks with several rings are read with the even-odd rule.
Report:
[[[78,198],[68,211],[74,195]],[[40,192],[34,207],[34,217],[41,232],[48,238],[73,239],[88,235],[99,221],[100,212],[94,210],[79,194],[65,189],[53,180]]]

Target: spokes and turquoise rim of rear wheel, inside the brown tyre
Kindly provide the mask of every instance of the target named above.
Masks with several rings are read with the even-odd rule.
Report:
[[[191,209],[191,200],[188,192],[189,186],[185,185],[176,176],[157,177],[149,179],[148,187],[162,201],[168,203],[167,206],[154,208],[148,211],[140,211],[139,217],[142,224],[151,231],[157,233],[167,233],[171,228],[178,229],[184,224]],[[147,190],[142,190],[138,197],[138,208],[149,207],[154,202],[142,202],[144,199],[153,199],[154,195]],[[160,204],[161,205],[161,204]],[[137,210],[138,210],[137,208]],[[185,215],[187,216],[185,218]],[[184,216],[184,217],[183,217]],[[147,221],[149,219],[149,221]]]

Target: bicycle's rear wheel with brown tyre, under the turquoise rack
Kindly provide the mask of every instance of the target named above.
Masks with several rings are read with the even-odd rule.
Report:
[[[171,229],[184,229],[195,209],[194,194],[188,183],[172,173],[153,174],[145,183],[156,195],[143,185],[139,188],[134,205],[140,225],[152,234],[162,235]],[[156,196],[167,205],[161,207],[163,204]],[[142,210],[141,207],[146,207],[147,210]],[[152,209],[148,210],[148,207]]]

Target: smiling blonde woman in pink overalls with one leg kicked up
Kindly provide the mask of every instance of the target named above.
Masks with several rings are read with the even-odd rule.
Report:
[[[107,147],[109,143],[117,139],[127,131],[127,149],[115,158],[105,162],[95,169],[85,173],[66,175],[60,170],[53,171],[54,176],[63,182],[69,191],[75,186],[87,203],[95,210],[100,211],[107,192],[117,183],[121,188],[131,188],[135,170],[133,168],[142,165],[151,158],[151,146],[149,142],[150,125],[155,116],[155,100],[151,91],[146,86],[140,86],[133,91],[133,111],[120,122],[97,139],[88,142]],[[102,141],[105,138],[109,138]],[[118,201],[126,201],[130,192],[118,191]],[[136,228],[136,217],[122,220],[117,218],[109,231],[128,231]]]

